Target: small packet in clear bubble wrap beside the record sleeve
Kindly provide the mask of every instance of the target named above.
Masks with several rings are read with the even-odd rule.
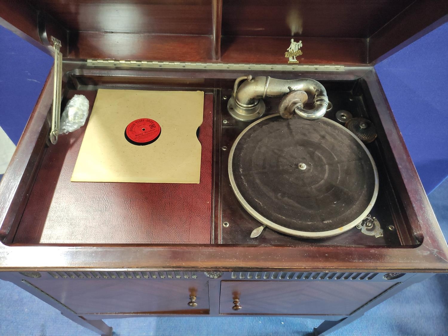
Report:
[[[89,101],[82,94],[75,94],[65,106],[60,117],[59,134],[68,134],[84,126],[89,115]]]

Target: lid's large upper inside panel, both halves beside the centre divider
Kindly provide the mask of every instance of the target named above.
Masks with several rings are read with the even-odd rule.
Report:
[[[368,38],[413,1],[230,0],[223,35]],[[212,34],[211,0],[28,2],[72,31]]]

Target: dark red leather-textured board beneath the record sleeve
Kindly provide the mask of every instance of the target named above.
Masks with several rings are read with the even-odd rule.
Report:
[[[96,91],[73,94],[93,106]],[[213,95],[206,94],[199,184],[70,182],[86,127],[60,136],[43,157],[13,242],[209,244],[212,117]]]

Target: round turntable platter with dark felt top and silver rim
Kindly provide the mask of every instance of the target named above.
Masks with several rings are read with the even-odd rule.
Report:
[[[254,218],[303,238],[353,228],[378,193],[378,173],[365,145],[326,118],[259,119],[235,140],[228,173],[235,195]]]

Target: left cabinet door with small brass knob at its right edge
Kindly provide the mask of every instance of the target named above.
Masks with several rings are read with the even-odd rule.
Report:
[[[177,279],[32,279],[34,286],[78,315],[208,314],[207,281]],[[189,306],[190,296],[197,306]]]

